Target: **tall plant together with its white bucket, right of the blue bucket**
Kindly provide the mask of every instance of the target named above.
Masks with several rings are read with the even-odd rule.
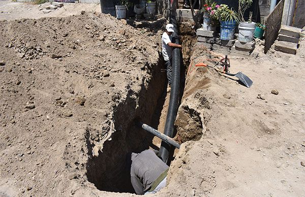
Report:
[[[252,12],[250,12],[250,18],[246,22],[244,15],[245,12],[252,5],[252,0],[238,0],[238,41],[243,43],[249,43],[253,40],[253,34],[255,30],[255,22],[252,22]]]

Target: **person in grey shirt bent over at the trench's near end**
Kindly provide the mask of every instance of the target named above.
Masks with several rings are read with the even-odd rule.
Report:
[[[137,194],[156,193],[166,186],[169,167],[153,150],[131,154],[131,183]]]

